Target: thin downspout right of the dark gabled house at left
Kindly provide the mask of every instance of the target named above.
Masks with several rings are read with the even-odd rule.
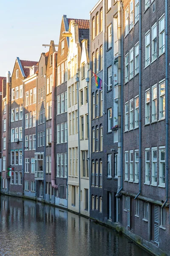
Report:
[[[23,82],[23,80],[22,80]],[[25,151],[24,151],[24,141],[25,141],[25,86],[23,82],[23,133],[22,133],[22,180],[24,181],[24,159],[25,159]],[[23,194],[24,194],[24,182],[23,182]]]

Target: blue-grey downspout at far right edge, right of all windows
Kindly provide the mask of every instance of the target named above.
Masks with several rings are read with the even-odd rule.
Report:
[[[166,161],[166,200],[161,208],[165,206],[168,201],[168,6],[165,0],[165,121],[166,121],[166,145],[165,145],[165,161]]]

